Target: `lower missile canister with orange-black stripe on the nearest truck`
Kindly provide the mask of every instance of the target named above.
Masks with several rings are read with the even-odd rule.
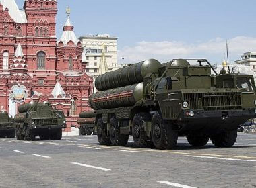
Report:
[[[89,104],[94,110],[112,109],[133,106],[141,99],[143,99],[143,83],[92,93]]]

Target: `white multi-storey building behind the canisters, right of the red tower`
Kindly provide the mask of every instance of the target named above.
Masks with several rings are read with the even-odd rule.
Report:
[[[85,71],[87,75],[91,77],[98,75],[102,50],[105,52],[108,71],[114,71],[127,66],[127,64],[118,64],[117,62],[117,37],[112,37],[109,34],[98,34],[96,36],[82,36],[79,39],[82,41],[84,48],[82,62],[86,63]]]

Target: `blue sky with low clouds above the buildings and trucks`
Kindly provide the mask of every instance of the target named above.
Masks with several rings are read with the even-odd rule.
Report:
[[[22,7],[24,0],[16,0]],[[57,37],[65,7],[77,36],[119,37],[119,59],[207,58],[222,62],[228,39],[231,61],[256,51],[255,0],[59,0]]]

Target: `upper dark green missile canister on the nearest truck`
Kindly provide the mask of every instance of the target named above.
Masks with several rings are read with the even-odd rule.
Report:
[[[95,80],[98,91],[140,83],[148,73],[157,73],[162,64],[155,59],[146,60],[120,68],[117,71],[99,75]]]

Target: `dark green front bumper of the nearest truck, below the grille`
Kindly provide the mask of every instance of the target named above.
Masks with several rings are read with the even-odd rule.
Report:
[[[214,132],[218,130],[236,130],[250,118],[256,118],[255,109],[228,111],[185,110],[179,115],[177,123],[181,125],[182,131],[204,129],[208,132]]]

